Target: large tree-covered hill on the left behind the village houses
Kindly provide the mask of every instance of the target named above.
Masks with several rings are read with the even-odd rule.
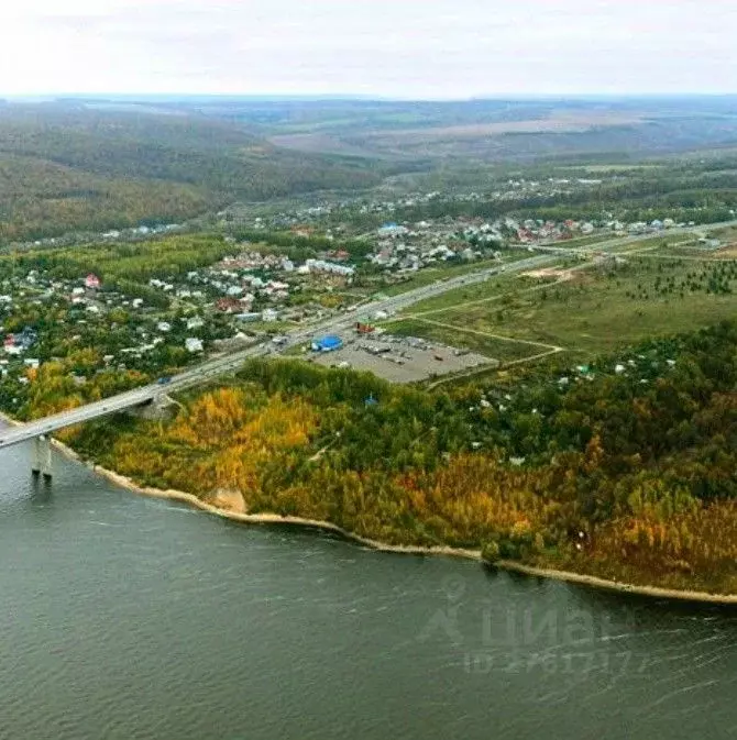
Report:
[[[233,200],[381,181],[365,162],[279,148],[183,113],[0,106],[0,239],[195,216]]]

